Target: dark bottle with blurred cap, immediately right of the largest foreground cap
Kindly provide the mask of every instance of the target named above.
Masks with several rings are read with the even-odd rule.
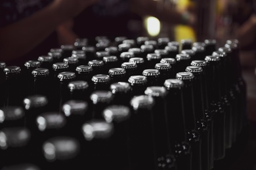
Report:
[[[91,170],[114,169],[116,163],[112,155],[114,125],[105,120],[89,120],[83,124],[82,132],[85,143],[81,145],[83,161],[81,167],[84,167],[83,169],[89,167]]]

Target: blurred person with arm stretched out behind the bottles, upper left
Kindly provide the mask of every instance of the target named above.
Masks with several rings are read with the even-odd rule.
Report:
[[[160,0],[2,0],[0,61],[18,65],[77,37],[129,36],[129,19],[144,15],[169,24],[195,23],[190,12]]]

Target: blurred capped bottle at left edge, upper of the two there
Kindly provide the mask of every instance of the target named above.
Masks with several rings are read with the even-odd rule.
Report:
[[[9,106],[0,108],[0,129],[6,127],[24,127],[25,112],[22,107]]]

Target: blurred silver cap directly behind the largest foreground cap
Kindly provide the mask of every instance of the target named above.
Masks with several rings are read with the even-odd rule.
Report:
[[[44,112],[37,116],[36,123],[40,131],[60,129],[66,125],[66,117],[61,112]]]

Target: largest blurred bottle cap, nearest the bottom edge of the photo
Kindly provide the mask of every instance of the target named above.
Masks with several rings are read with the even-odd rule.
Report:
[[[48,161],[70,160],[79,150],[79,142],[73,137],[53,137],[43,143],[43,154]]]

